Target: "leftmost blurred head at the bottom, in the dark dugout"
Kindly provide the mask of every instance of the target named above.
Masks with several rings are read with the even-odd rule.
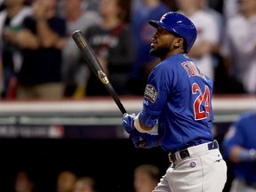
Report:
[[[35,191],[35,181],[27,172],[20,170],[15,175],[14,192],[33,192]]]

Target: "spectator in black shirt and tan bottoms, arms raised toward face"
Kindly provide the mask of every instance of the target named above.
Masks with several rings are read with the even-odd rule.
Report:
[[[60,99],[61,53],[65,45],[66,22],[56,15],[57,0],[35,0],[33,15],[23,22],[16,36],[23,62],[18,74],[17,98]]]

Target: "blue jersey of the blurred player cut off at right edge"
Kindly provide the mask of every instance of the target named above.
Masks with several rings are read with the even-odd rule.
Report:
[[[229,157],[230,151],[235,146],[242,148],[256,149],[256,111],[242,114],[234,122],[222,141],[223,155]],[[256,182],[255,162],[244,162],[234,165],[234,175],[236,178],[247,182]]]

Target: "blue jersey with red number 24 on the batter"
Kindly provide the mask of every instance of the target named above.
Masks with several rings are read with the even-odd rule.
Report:
[[[178,53],[148,76],[140,120],[158,124],[161,148],[169,152],[212,141],[212,80]]]

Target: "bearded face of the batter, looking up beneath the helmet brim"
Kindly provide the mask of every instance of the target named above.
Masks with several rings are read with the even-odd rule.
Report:
[[[164,58],[171,56],[175,52],[177,45],[179,47],[179,39],[182,41],[180,42],[181,46],[183,43],[182,38],[174,36],[164,28],[158,27],[152,38],[150,54],[164,60]]]

